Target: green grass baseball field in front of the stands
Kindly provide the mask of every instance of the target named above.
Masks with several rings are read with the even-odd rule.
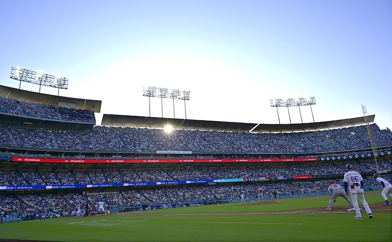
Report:
[[[380,191],[368,192],[366,198],[370,208],[383,202]],[[326,213],[328,196],[279,201],[2,223],[0,238],[58,242],[391,241],[392,206],[382,208],[388,211],[374,210],[373,219],[363,211],[364,219],[354,220],[354,212]],[[343,198],[334,204],[339,206],[348,208]],[[299,209],[316,212],[273,213]]]

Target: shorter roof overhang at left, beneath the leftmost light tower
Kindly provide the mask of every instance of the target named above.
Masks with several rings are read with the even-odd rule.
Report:
[[[101,111],[101,103],[102,103],[102,101],[98,101],[98,100],[55,96],[55,95],[38,93],[33,91],[26,91],[17,88],[5,87],[1,85],[0,85],[0,97],[16,99],[19,101],[24,101],[29,103],[53,105],[55,107],[58,107],[58,103],[72,103],[76,105],[76,109],[91,110],[94,112]]]

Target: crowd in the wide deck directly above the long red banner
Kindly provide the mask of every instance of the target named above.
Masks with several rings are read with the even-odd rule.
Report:
[[[392,146],[392,132],[371,125],[377,147]],[[9,131],[9,132],[8,132]],[[89,131],[0,125],[4,145],[37,149],[109,152],[309,154],[369,149],[366,126],[296,133],[245,133],[96,126]],[[0,145],[2,142],[0,143]]]

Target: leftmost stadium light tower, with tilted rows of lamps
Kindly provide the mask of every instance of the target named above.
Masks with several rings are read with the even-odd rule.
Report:
[[[57,77],[41,72],[36,72],[21,67],[11,67],[11,79],[19,81],[19,89],[21,89],[22,82],[28,82],[40,85],[39,92],[41,93],[41,86],[48,86],[58,88],[57,96],[60,94],[61,89],[68,89],[68,78]]]

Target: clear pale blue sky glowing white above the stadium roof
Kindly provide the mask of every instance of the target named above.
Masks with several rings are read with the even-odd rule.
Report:
[[[103,114],[311,123],[365,105],[392,127],[391,0],[0,0],[0,33],[0,85],[19,88],[12,66],[64,76],[68,89],[40,92],[101,100],[97,125]]]

